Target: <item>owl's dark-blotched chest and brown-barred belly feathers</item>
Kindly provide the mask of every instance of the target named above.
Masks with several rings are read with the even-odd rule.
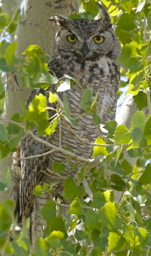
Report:
[[[87,88],[92,89],[93,97],[96,96],[98,92],[97,113],[100,116],[102,123],[104,124],[109,119],[115,118],[111,113],[112,111],[115,113],[115,95],[116,88],[118,87],[118,73],[115,61],[110,60],[105,56],[97,61],[77,61],[74,58],[69,57],[68,60],[64,59],[63,72],[74,79],[79,80],[82,86],[81,89],[75,84],[70,90],[64,91],[70,105],[72,119],[77,119],[81,113],[84,113],[79,106],[81,95]],[[110,96],[113,96],[114,102],[110,101]],[[107,97],[107,100],[105,97]],[[92,113],[87,113],[82,116],[82,118],[78,118],[78,126],[70,128],[75,131],[79,137],[82,137],[89,142],[94,142],[96,137],[98,137],[98,132],[92,119]],[[53,139],[53,143],[59,144],[57,137],[54,136]],[[65,125],[62,125],[62,145],[66,147],[73,146],[79,154],[85,156],[92,152],[92,148],[88,147],[86,150],[86,144],[82,144],[74,136],[74,133],[72,133]]]

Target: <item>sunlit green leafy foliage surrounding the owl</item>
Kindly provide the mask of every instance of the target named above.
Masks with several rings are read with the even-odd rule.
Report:
[[[80,14],[70,17],[99,17],[95,0],[81,0]],[[106,136],[97,137],[92,142],[92,158],[101,160],[101,164],[91,166],[91,161],[84,162],[77,177],[64,180],[64,201],[68,214],[60,217],[61,201],[48,201],[40,213],[46,220],[43,237],[35,244],[32,255],[151,255],[151,117],[143,112],[150,110],[150,52],[149,41],[151,29],[151,10],[148,1],[103,0],[108,8],[115,31],[120,38],[122,51],[119,58],[121,76],[127,83],[120,84],[120,90],[126,86],[137,104],[137,112],[131,117],[130,127],[117,125],[110,121],[105,128]],[[58,87],[58,92],[69,90],[77,81],[65,77],[59,81],[48,73],[48,55],[38,45],[29,45],[24,58],[16,56],[16,42],[8,43],[6,34],[14,34],[19,22],[20,10],[11,19],[8,14],[0,15],[0,113],[3,113],[5,98],[5,74],[12,73],[20,77],[23,87],[42,87],[47,90],[50,84]],[[124,84],[124,85],[123,85]],[[101,120],[97,114],[97,98],[92,96],[92,89],[83,90],[81,95],[82,115],[91,113],[95,125]],[[53,106],[57,105],[54,110]],[[49,111],[53,110],[53,119]],[[70,125],[78,125],[78,119],[71,118],[68,99],[50,92],[48,99],[39,94],[23,115],[14,116],[6,123],[0,124],[0,158],[14,152],[22,137],[23,128],[30,130],[37,126],[38,135],[51,135],[60,117],[68,120]],[[23,127],[23,122],[25,127]],[[82,143],[82,142],[81,142]],[[84,142],[83,142],[84,143]],[[72,146],[72,145],[71,145]],[[86,144],[87,146],[87,144]],[[89,146],[89,145],[88,145]],[[66,154],[72,148],[66,148]],[[127,155],[129,158],[127,158]],[[90,167],[89,167],[90,166]],[[75,169],[76,166],[71,165]],[[53,172],[64,174],[64,163],[53,162]],[[6,174],[7,177],[7,174]],[[10,179],[10,177],[9,177]],[[86,183],[87,180],[87,183]],[[0,182],[0,190],[8,188],[6,180]],[[34,195],[51,193],[55,183],[37,185]],[[88,188],[87,188],[88,187]],[[14,202],[0,203],[0,250],[2,255],[24,256],[29,252],[28,220],[20,231],[14,220]],[[11,241],[10,237],[14,237]]]

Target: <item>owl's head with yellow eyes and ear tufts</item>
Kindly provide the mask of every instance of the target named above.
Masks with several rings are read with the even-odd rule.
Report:
[[[74,53],[86,60],[104,55],[117,59],[120,55],[120,42],[109,15],[106,12],[103,14],[99,20],[70,20],[62,15],[51,17],[49,20],[59,26],[56,34],[57,49]]]

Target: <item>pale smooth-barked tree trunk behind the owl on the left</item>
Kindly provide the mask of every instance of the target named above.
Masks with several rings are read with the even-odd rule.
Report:
[[[9,2],[9,0],[6,1],[6,9]],[[16,4],[19,2],[20,0],[15,0]],[[48,21],[48,18],[55,14],[68,16],[71,13],[78,12],[79,3],[80,0],[39,0],[38,3],[37,0],[25,0],[17,31],[17,55],[21,56],[29,44],[38,44],[44,53],[51,54],[55,26]],[[10,119],[14,113],[21,113],[21,102],[26,101],[29,93],[29,89],[22,88],[20,84],[16,83],[14,76],[9,74],[3,118]],[[0,170],[3,175],[5,175],[10,165],[11,157],[1,161]],[[6,197],[8,197],[8,194]]]

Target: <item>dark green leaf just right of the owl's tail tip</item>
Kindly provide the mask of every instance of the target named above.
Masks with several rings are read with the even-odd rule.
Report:
[[[47,223],[52,221],[52,218],[56,217],[56,204],[54,201],[48,201],[44,207],[39,211]]]

